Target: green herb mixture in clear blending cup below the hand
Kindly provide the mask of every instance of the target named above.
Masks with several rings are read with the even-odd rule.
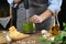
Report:
[[[33,26],[32,22],[24,22],[22,24],[22,29],[23,33],[33,33],[35,31],[35,28]]]

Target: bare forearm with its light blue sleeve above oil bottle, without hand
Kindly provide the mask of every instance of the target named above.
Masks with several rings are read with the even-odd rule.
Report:
[[[50,6],[47,10],[40,15],[43,18],[43,20],[46,20],[55,12],[58,13],[61,11],[62,0],[48,0],[48,3]]]

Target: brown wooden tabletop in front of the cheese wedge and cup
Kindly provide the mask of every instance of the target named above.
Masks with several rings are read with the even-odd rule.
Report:
[[[38,37],[42,36],[41,32],[30,34],[30,37],[22,38],[19,41],[12,41],[11,44],[43,44]]]

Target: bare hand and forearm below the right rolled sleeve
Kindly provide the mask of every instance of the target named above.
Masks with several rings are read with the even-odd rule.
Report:
[[[52,11],[46,10],[45,12],[43,12],[40,15],[34,14],[33,16],[31,16],[30,21],[33,23],[42,23],[43,21],[48,19],[51,15],[52,15]]]

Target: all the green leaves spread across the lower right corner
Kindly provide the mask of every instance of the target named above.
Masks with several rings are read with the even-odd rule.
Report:
[[[44,37],[38,38],[44,44],[66,44],[66,23],[63,22],[64,30],[55,36],[54,42],[47,42]]]

